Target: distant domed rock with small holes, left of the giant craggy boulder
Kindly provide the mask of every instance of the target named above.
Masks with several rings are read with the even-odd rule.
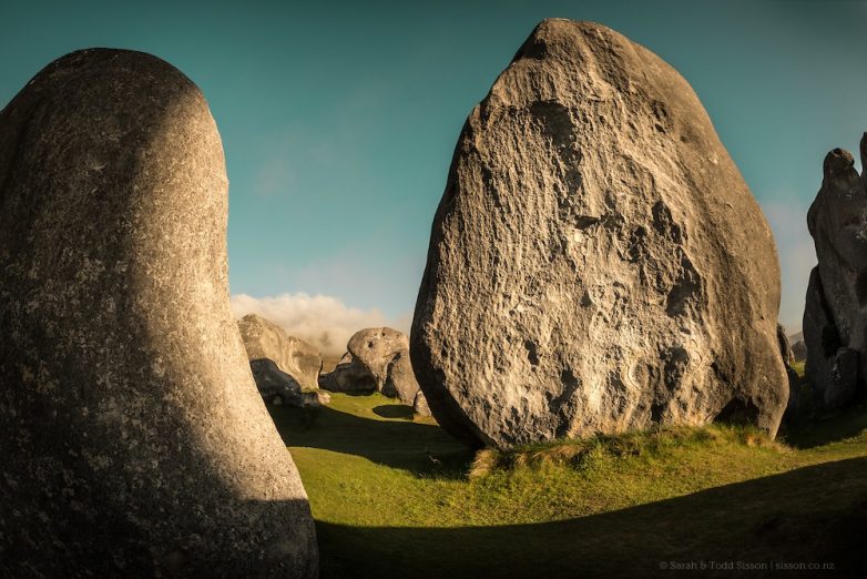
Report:
[[[319,380],[333,392],[379,392],[411,405],[418,383],[409,360],[409,338],[390,327],[356,332],[334,372]]]

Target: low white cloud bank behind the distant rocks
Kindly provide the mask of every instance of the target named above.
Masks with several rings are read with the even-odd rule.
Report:
[[[232,311],[238,318],[258,314],[332,356],[346,352],[346,343],[359,329],[389,326],[409,332],[412,319],[411,315],[389,319],[377,308],[359,309],[336,297],[304,293],[265,297],[237,294],[232,296]]]

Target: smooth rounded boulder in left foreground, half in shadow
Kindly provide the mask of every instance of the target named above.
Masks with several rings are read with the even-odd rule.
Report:
[[[9,576],[317,575],[230,309],[226,191],[205,99],[154,57],[69,54],[0,112]]]

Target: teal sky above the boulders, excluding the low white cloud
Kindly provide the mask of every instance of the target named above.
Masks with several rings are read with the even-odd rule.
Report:
[[[142,50],[185,72],[226,151],[233,294],[410,313],[467,114],[536,23],[563,17],[614,28],[690,81],[775,230],[781,318],[800,326],[822,160],[856,151],[867,129],[867,3],[174,4],[4,6],[0,104],[81,48]]]

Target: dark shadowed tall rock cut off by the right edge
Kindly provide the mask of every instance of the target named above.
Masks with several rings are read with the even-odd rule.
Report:
[[[861,139],[867,160],[867,133]],[[818,265],[807,286],[806,376],[819,409],[840,408],[864,393],[867,376],[867,173],[847,151],[825,158],[822,189],[807,213]]]

